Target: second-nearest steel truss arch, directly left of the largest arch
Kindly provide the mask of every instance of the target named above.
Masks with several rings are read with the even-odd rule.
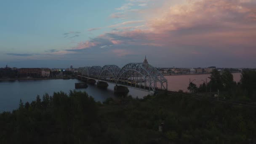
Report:
[[[120,67],[117,65],[105,65],[101,68],[98,78],[99,80],[109,80],[111,82],[117,83],[117,76],[120,70]]]

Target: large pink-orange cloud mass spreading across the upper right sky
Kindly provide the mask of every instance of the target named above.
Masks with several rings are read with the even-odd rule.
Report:
[[[256,54],[251,50],[256,46],[256,3],[253,0],[188,0],[157,9],[149,7],[147,15],[142,13],[140,21],[109,26],[118,28],[98,38],[109,40],[110,44],[102,45],[150,45],[163,49],[163,53],[186,48],[182,50],[184,53],[194,55],[203,55],[202,50],[230,53],[233,56]],[[139,23],[144,24],[141,27],[122,27]],[[80,43],[77,49],[99,44],[101,42],[97,40],[86,41]],[[241,48],[243,54],[240,53]],[[124,49],[113,52],[117,56],[131,54]]]

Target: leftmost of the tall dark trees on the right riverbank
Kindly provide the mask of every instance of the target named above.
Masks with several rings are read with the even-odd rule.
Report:
[[[210,75],[210,82],[209,85],[212,91],[217,91],[223,89],[223,83],[221,81],[221,74],[217,69],[213,69]]]

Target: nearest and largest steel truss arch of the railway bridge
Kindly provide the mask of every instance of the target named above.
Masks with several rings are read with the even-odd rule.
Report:
[[[127,85],[138,85],[140,88],[147,88],[156,91],[158,88],[167,90],[167,80],[165,77],[150,64],[129,63],[126,64],[118,73],[117,84],[127,83]]]

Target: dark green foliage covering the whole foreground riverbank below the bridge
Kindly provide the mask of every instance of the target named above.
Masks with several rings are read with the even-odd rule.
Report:
[[[256,109],[182,93],[101,104],[85,92],[47,93],[0,113],[0,144],[229,144],[255,139]],[[163,132],[158,126],[163,123]]]

